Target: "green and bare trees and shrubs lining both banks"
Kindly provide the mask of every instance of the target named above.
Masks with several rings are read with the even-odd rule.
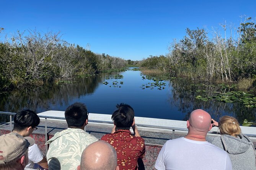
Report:
[[[238,83],[238,88],[256,88],[256,23],[243,16],[239,27],[230,29],[186,29],[174,40],[169,53],[142,61],[97,54],[61,39],[60,32],[18,31],[0,42],[0,91],[40,86],[87,77],[100,72],[125,71],[137,66],[145,75],[179,77],[195,82]],[[0,28],[0,37],[3,37]],[[210,33],[212,35],[210,35]],[[224,36],[221,35],[224,33]],[[26,34],[25,34],[26,33]],[[62,81],[62,82],[61,82]]]

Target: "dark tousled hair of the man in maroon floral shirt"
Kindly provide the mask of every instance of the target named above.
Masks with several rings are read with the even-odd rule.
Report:
[[[116,129],[129,129],[134,120],[134,110],[128,104],[120,103],[116,105],[117,110],[112,114],[111,119],[116,125]]]

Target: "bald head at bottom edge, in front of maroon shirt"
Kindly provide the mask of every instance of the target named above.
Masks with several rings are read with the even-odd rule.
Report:
[[[85,148],[77,170],[119,170],[116,150],[106,141],[96,141]]]

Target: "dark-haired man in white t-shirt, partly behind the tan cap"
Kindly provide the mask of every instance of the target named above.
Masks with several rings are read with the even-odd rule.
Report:
[[[13,132],[26,137],[31,135],[31,133],[37,129],[40,119],[34,111],[26,109],[15,114],[13,122]],[[33,144],[29,147],[28,159],[29,161],[26,168],[37,169],[39,166],[45,169],[48,168],[46,157],[44,157],[37,144]]]

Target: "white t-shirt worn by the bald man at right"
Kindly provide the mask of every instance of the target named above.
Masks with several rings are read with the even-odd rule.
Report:
[[[232,170],[228,154],[207,141],[168,140],[157,157],[157,170]]]

